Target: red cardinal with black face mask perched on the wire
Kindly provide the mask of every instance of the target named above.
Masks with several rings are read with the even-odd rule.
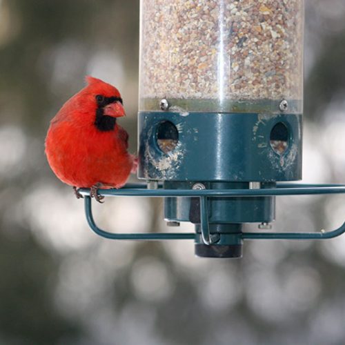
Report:
[[[70,98],[50,121],[46,155],[55,175],[73,187],[90,188],[91,197],[103,199],[98,188],[121,188],[137,157],[130,155],[128,133],[117,124],[125,116],[119,90],[86,77],[88,85]]]

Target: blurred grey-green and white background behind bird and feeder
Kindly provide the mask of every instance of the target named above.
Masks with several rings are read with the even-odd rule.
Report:
[[[311,183],[345,182],[344,18],[344,0],[306,0]],[[46,130],[92,75],[121,90],[135,152],[138,48],[138,0],[0,0],[0,344],[344,344],[345,236],[246,242],[229,261],[88,228],[48,167]],[[112,198],[95,215],[109,230],[162,231],[161,206]],[[283,197],[274,230],[331,230],[344,216],[344,196]]]

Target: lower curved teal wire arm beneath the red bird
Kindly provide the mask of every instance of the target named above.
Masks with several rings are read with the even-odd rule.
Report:
[[[195,233],[108,233],[108,231],[101,230],[95,223],[92,215],[91,198],[84,197],[84,206],[86,219],[90,228],[99,236],[107,239],[145,239],[152,241],[159,241],[162,239],[195,239]]]

